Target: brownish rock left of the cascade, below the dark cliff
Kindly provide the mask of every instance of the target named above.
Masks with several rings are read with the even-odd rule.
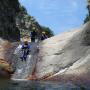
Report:
[[[14,72],[16,57],[13,55],[16,43],[0,39],[0,78],[10,78]]]

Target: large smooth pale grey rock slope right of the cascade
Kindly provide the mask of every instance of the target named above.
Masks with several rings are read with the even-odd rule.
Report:
[[[90,23],[43,41],[37,62],[39,79],[90,82]]]

